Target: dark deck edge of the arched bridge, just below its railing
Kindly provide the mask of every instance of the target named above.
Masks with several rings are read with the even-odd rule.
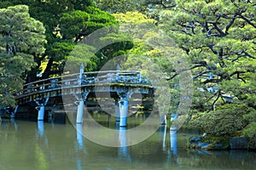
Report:
[[[79,95],[84,92],[88,92],[90,98],[114,98],[118,99],[119,94],[122,92],[131,92],[133,96],[145,96],[149,98],[154,98],[154,88],[141,86],[141,85],[130,85],[125,84],[100,84],[100,85],[90,85],[90,86],[77,86],[69,88],[55,88],[46,89],[44,91],[34,91],[30,94],[22,94],[16,97],[17,105],[25,105],[26,103],[33,102],[38,98],[54,98],[57,96],[63,96],[62,99],[66,99],[64,96]]]

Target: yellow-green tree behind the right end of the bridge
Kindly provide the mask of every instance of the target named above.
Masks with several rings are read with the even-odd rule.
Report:
[[[155,102],[161,105],[161,114],[176,113],[182,88],[177,86],[178,78],[172,82],[167,82],[166,79],[177,67],[173,65],[174,61],[177,57],[180,58],[183,52],[172,43],[172,39],[163,35],[159,27],[155,26],[157,20],[138,12],[114,16],[122,23],[121,31],[130,35],[134,43],[133,48],[125,55],[126,60],[120,66],[125,70],[141,71],[143,77],[147,77],[149,82],[159,87],[157,93],[160,95]]]

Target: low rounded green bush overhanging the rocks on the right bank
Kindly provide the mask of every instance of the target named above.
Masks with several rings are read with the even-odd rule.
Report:
[[[256,111],[247,105],[229,104],[219,106],[215,111],[197,114],[197,117],[191,125],[212,136],[232,137],[240,136],[249,123],[256,122]]]

